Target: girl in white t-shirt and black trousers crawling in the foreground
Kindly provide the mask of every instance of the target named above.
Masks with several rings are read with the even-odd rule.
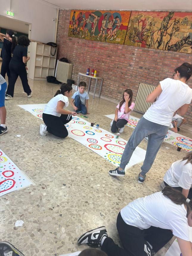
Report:
[[[161,192],[138,198],[125,206],[117,217],[117,230],[123,249],[107,236],[105,227],[83,234],[78,243],[101,246],[108,256],[153,256],[175,235],[182,256],[192,256],[189,227],[192,201],[178,190],[165,187]]]

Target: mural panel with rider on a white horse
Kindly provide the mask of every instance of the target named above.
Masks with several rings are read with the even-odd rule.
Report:
[[[132,11],[125,44],[192,53],[192,13]]]

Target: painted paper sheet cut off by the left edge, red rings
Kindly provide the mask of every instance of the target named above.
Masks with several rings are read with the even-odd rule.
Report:
[[[0,149],[0,196],[34,184]]]

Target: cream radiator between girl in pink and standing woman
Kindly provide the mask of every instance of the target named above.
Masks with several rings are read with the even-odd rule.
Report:
[[[146,98],[156,86],[140,83],[137,98],[135,100],[134,110],[140,113],[145,113],[152,103],[147,103]]]

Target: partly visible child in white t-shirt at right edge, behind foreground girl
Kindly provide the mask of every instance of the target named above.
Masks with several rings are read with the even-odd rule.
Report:
[[[189,152],[182,160],[172,163],[163,178],[166,186],[173,187],[182,194],[192,199],[192,152]]]

